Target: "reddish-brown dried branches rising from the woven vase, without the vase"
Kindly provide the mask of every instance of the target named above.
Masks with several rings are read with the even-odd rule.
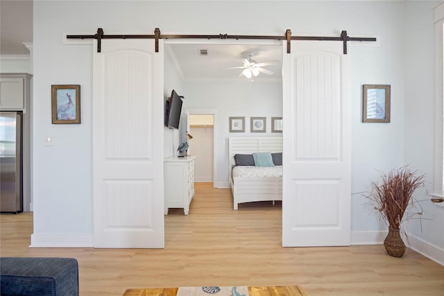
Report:
[[[391,228],[400,228],[403,218],[411,218],[421,215],[421,211],[415,213],[409,211],[414,207],[413,192],[424,185],[425,175],[418,175],[418,171],[412,171],[409,166],[396,168],[383,174],[382,184],[372,182],[370,200],[373,200],[375,209]]]

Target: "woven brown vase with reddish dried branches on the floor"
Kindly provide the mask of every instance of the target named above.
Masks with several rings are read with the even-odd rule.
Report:
[[[381,177],[382,184],[371,183],[372,191],[368,198],[388,225],[388,235],[384,240],[387,253],[402,257],[405,252],[405,244],[400,235],[402,219],[422,215],[422,208],[413,198],[413,192],[423,186],[425,175],[418,175],[418,171],[404,166],[392,169]],[[419,211],[416,210],[418,207]]]

